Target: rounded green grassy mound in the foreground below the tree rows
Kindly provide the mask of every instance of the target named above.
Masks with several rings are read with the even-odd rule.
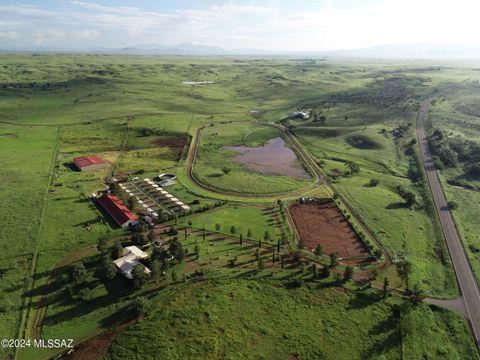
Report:
[[[368,293],[228,280],[182,284],[152,302],[106,359],[477,358],[459,315],[422,305],[397,318],[394,301]]]

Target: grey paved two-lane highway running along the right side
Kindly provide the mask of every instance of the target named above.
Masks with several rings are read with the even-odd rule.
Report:
[[[465,254],[460,236],[458,235],[457,228],[453,222],[452,214],[448,209],[447,200],[445,199],[442,185],[438,178],[437,171],[433,165],[432,156],[430,154],[428,142],[425,137],[425,115],[432,100],[439,95],[441,94],[437,93],[430,96],[429,98],[425,99],[420,106],[420,110],[417,114],[417,137],[422,153],[422,160],[427,173],[428,183],[430,185],[430,189],[432,190],[435,207],[442,224],[448,251],[450,252],[450,257],[452,259],[454,271],[460,287],[462,295],[461,299],[464,302],[466,315],[470,320],[470,324],[473,329],[473,335],[478,348],[480,346],[480,291],[472,273],[472,269],[470,268],[470,264]]]

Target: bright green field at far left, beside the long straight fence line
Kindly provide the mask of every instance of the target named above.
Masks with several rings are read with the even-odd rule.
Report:
[[[5,225],[0,241],[0,333],[15,338],[20,314],[28,306],[24,294],[32,282],[40,227],[50,216],[44,207],[57,129],[0,125],[0,134],[0,214]],[[6,354],[0,350],[0,356]]]

